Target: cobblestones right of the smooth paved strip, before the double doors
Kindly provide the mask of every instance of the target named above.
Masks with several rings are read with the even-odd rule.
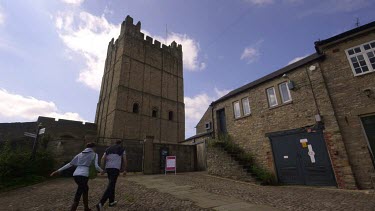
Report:
[[[259,186],[234,182],[199,173],[169,176],[169,181],[191,185],[207,192],[235,197],[251,204],[281,210],[368,210],[375,211],[375,194],[331,188],[297,186]]]

